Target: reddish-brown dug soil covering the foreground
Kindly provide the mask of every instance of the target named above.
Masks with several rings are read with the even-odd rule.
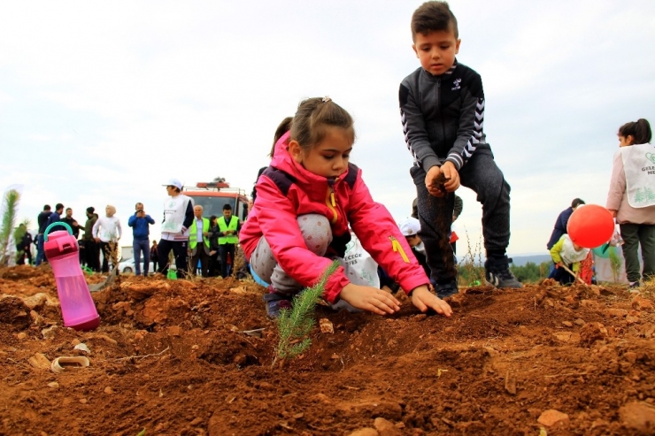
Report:
[[[81,333],[62,326],[48,267],[0,270],[0,433],[655,433],[648,295],[475,287],[450,319],[402,297],[393,317],[320,307],[334,333],[316,327],[280,369],[263,291],[123,277],[93,295],[102,324]],[[78,355],[90,366],[50,371]]]

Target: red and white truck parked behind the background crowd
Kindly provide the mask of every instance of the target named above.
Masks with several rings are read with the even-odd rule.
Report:
[[[195,187],[184,187],[184,195],[193,198],[193,203],[203,206],[203,217],[212,215],[221,217],[223,206],[232,206],[232,215],[239,217],[243,222],[248,215],[248,197],[245,190],[239,187],[230,187],[225,181],[198,182]]]

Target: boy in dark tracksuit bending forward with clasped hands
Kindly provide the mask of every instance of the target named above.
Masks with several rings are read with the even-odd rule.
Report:
[[[521,287],[509,270],[510,186],[482,132],[484,93],[478,73],[459,64],[457,19],[445,2],[427,2],[412,15],[412,48],[420,68],[400,85],[407,148],[414,157],[420,239],[438,294],[457,292],[449,243],[454,192],[460,183],[482,203],[485,276],[497,287]]]

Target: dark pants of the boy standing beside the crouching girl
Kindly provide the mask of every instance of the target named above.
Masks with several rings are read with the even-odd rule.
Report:
[[[412,166],[420,221],[420,239],[425,244],[431,279],[437,284],[457,279],[455,256],[449,243],[455,195],[435,197],[425,187],[426,172]],[[462,186],[470,187],[482,203],[482,237],[486,256],[502,258],[510,241],[510,186],[497,167],[490,149],[477,149],[460,169]],[[471,253],[472,255],[474,253]]]

